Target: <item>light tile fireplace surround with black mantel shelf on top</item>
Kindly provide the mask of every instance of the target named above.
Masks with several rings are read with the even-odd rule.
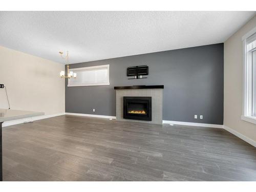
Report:
[[[163,120],[163,86],[129,86],[115,87],[116,120],[162,124]],[[152,97],[152,121],[124,119],[123,97]]]

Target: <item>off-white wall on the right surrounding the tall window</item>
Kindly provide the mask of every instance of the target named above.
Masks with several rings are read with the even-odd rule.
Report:
[[[241,120],[243,99],[242,36],[254,27],[256,27],[256,16],[224,42],[224,125],[256,142],[256,124]]]

